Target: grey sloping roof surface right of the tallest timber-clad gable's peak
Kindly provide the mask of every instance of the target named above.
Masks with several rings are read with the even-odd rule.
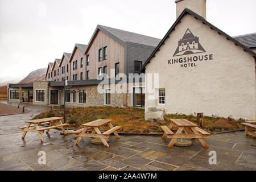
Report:
[[[123,40],[123,42],[133,42],[138,44],[143,44],[147,46],[158,46],[161,39],[152,38],[151,36],[136,34],[129,31],[119,30],[117,28],[106,27],[102,25],[98,25],[104,28],[106,31],[109,31],[113,35],[117,36],[119,39]]]

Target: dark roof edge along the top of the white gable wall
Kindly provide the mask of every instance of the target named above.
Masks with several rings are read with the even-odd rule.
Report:
[[[215,30],[218,32],[218,34],[220,35],[224,35],[226,37],[227,40],[231,40],[232,42],[234,42],[234,44],[236,46],[240,46],[243,48],[243,51],[249,52],[251,55],[253,55],[254,59],[256,59],[256,53],[251,51],[251,49],[249,49],[248,47],[244,46],[243,44],[241,44],[240,42],[238,42],[236,39],[232,38],[231,36],[229,36],[228,34],[226,34],[225,32],[221,31],[220,29],[218,29],[217,27],[213,26],[213,24],[210,24],[209,22],[207,22],[207,20],[205,20],[202,16],[200,16],[199,14],[196,14],[195,12],[193,12],[192,10],[189,10],[187,8],[185,8],[183,10],[183,12],[179,15],[179,17],[176,19],[176,21],[174,22],[174,24],[172,24],[170,30],[168,30],[167,34],[164,35],[164,38],[161,40],[161,42],[158,44],[158,46],[155,48],[155,50],[151,53],[150,57],[148,57],[148,59],[146,60],[146,62],[142,65],[142,68],[140,69],[140,72],[143,71],[143,69],[146,67],[146,65],[148,63],[150,63],[150,60],[152,59],[152,57],[155,56],[155,53],[160,51],[160,47],[164,44],[164,41],[168,38],[170,38],[170,34],[172,31],[175,31],[175,27],[178,23],[180,23],[180,20],[183,18],[184,15],[192,15],[194,16],[195,19],[200,20],[203,24],[207,24],[212,30]]]

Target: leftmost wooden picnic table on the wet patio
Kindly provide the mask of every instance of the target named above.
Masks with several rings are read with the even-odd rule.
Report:
[[[22,139],[25,138],[27,132],[29,131],[29,132],[38,133],[41,142],[44,142],[42,133],[44,133],[45,130],[46,130],[46,133],[49,133],[50,129],[55,129],[57,127],[60,127],[61,130],[63,131],[63,134],[67,135],[64,129],[64,126],[68,126],[69,124],[67,123],[63,124],[62,121],[63,121],[62,117],[51,117],[51,118],[35,119],[31,121],[24,121],[25,123],[27,123],[27,126],[19,127],[19,129],[24,131],[22,135]],[[39,126],[42,126],[42,125],[47,125],[48,127],[43,127],[39,129]]]

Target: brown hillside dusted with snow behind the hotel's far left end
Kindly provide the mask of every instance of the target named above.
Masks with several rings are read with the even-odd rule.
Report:
[[[28,74],[27,77],[21,80],[19,84],[26,84],[35,81],[44,81],[44,78],[46,76],[46,70],[47,68],[41,68],[37,69],[36,71],[32,71],[30,74]]]

